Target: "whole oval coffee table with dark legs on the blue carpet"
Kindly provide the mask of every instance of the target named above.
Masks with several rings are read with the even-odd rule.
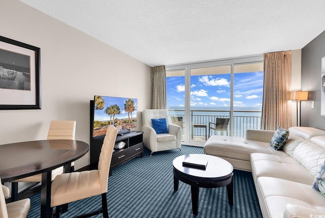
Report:
[[[183,167],[186,158],[191,160],[208,160],[205,170]],[[208,154],[186,154],[173,161],[174,190],[178,190],[179,180],[191,185],[193,214],[198,214],[199,188],[219,188],[227,186],[228,204],[234,204],[233,166],[221,158]]]

